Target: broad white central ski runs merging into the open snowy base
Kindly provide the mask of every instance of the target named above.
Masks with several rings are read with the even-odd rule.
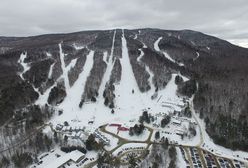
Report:
[[[113,121],[117,123],[125,123],[133,119],[138,119],[144,109],[149,109],[149,113],[156,114],[161,111],[169,113],[170,111],[179,108],[178,104],[182,103],[182,98],[179,98],[176,93],[177,85],[175,84],[175,76],[177,74],[172,75],[172,78],[168,82],[167,86],[164,89],[158,91],[158,97],[152,100],[151,96],[154,94],[154,92],[150,91],[141,93],[139,90],[133,73],[132,65],[130,63],[124,31],[121,41],[122,58],[120,58],[120,63],[122,72],[120,83],[115,84],[114,93],[116,97],[114,114],[111,113],[111,109],[109,107],[104,105],[104,98],[101,96],[105,84],[110,78],[111,69],[113,68],[113,62],[111,61],[111,57],[113,56],[112,54],[110,54],[108,60],[106,59],[106,53],[103,57],[103,60],[107,62],[107,70],[99,88],[100,94],[98,100],[96,102],[85,102],[82,108],[79,108],[81,95],[83,94],[87,77],[89,76],[90,70],[94,63],[93,51],[91,51],[87,56],[83,72],[80,73],[79,78],[75,84],[70,89],[66,90],[67,96],[65,100],[58,106],[58,108],[63,109],[63,114],[60,116],[55,116],[52,120],[53,124],[56,125],[58,123],[63,123],[64,121],[68,121],[71,126],[78,126],[80,122],[80,125],[88,126],[91,131],[94,131],[94,129],[98,128],[100,125],[112,123]],[[113,46],[114,45],[112,45],[111,50],[113,50]],[[148,68],[146,68],[146,70],[149,72]],[[149,82],[152,83],[152,72],[149,72],[149,74],[151,74]],[[183,79],[187,80],[185,77]],[[153,87],[152,90],[155,90],[155,88]],[[163,107],[162,102],[165,101],[175,101],[175,104],[170,104],[170,108]]]

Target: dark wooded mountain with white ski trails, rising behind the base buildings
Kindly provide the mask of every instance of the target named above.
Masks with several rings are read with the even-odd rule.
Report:
[[[63,109],[55,121],[138,116],[181,73],[191,79],[181,94],[198,83],[195,110],[210,136],[248,150],[247,49],[191,30],[117,29],[0,37],[0,51],[1,124],[30,104]]]

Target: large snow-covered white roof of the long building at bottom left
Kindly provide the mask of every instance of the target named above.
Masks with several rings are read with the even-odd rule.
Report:
[[[65,164],[69,160],[72,160],[74,162],[77,162],[81,157],[84,157],[84,156],[85,155],[82,152],[80,152],[78,150],[75,150],[75,151],[72,151],[70,153],[65,154],[64,156],[61,156],[61,157],[57,158],[56,160],[53,160],[46,167],[57,168],[57,167]]]

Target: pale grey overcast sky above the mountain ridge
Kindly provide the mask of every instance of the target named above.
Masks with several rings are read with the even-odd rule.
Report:
[[[144,27],[246,42],[248,0],[0,0],[0,36]]]

